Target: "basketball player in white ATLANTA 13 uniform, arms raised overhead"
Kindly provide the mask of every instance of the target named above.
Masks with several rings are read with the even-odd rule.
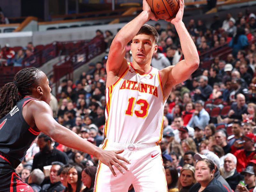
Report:
[[[180,37],[185,60],[175,66],[157,70],[150,66],[157,51],[155,28],[144,25],[156,20],[146,0],[143,11],[127,23],[114,38],[107,61],[107,107],[105,150],[124,149],[123,156],[131,164],[124,175],[116,177],[108,166],[99,164],[95,179],[96,192],[125,192],[132,184],[135,191],[166,192],[167,184],[161,149],[164,104],[176,84],[184,82],[198,68],[199,57],[184,23],[184,0],[171,21]],[[124,58],[125,45],[130,42],[132,63]],[[114,167],[115,169],[115,167]]]

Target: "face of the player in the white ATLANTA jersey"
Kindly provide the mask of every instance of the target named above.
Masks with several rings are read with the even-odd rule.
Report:
[[[146,34],[136,35],[132,39],[132,58],[137,64],[144,65],[151,61],[153,53],[157,51],[154,40],[154,36]]]

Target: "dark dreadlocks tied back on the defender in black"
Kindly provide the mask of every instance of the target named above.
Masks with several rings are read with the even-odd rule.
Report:
[[[14,77],[13,82],[7,83],[0,92],[0,119],[7,115],[16,103],[32,94],[32,89],[39,84],[41,70],[37,68],[21,69]]]

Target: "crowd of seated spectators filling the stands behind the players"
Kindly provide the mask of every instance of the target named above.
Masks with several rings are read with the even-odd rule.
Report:
[[[205,184],[209,191],[221,191],[217,180],[230,192],[255,188],[255,18],[253,13],[239,12],[235,20],[228,13],[223,22],[215,15],[210,28],[202,20],[190,20],[187,25],[199,53],[223,44],[233,52],[225,59],[213,58],[202,75],[173,87],[164,106],[159,145],[169,191],[198,191]],[[155,27],[160,40],[152,66],[175,65],[183,59],[175,29],[171,24],[166,29],[158,23]],[[103,36],[100,30],[96,33]],[[111,39],[113,34],[106,31],[107,45]],[[126,59],[132,62],[129,44]],[[52,95],[50,103],[58,123],[99,147],[105,139],[106,60],[90,63],[79,79],[62,80],[58,100]],[[54,76],[49,81],[52,85]],[[221,111],[227,106],[226,114],[210,116],[214,108]],[[16,172],[37,191],[93,191],[97,165],[96,157],[41,133]],[[132,186],[129,191],[134,191]]]

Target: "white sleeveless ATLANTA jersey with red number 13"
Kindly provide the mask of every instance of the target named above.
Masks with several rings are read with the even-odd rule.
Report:
[[[116,143],[160,142],[164,104],[161,76],[156,68],[140,75],[132,63],[106,90],[106,139]]]

